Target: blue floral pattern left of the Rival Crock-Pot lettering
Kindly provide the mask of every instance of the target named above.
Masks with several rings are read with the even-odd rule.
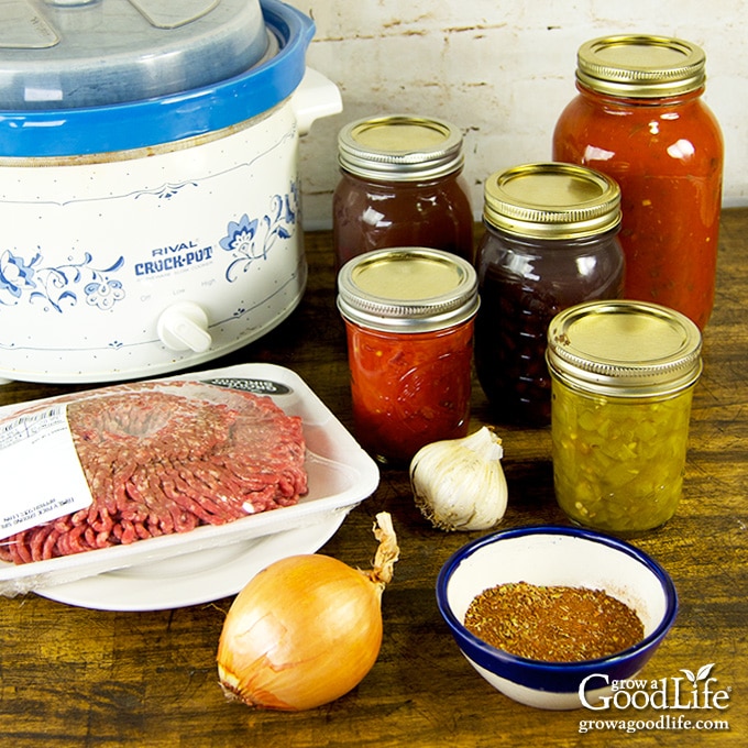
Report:
[[[29,302],[42,301],[45,310],[63,314],[65,306],[78,302],[79,288],[86,302],[103,311],[124,298],[122,282],[111,278],[124,265],[120,256],[112,265],[98,268],[94,255],[84,253],[80,262],[68,262],[57,267],[43,267],[44,256],[36,252],[31,260],[6,250],[0,254],[0,305],[14,306],[24,296]]]

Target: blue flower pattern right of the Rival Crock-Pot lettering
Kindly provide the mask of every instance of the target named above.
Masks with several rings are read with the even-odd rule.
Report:
[[[244,213],[239,221],[229,221],[227,235],[219,242],[221,249],[231,252],[233,260],[226,270],[226,278],[234,283],[239,272],[246,273],[257,260],[266,260],[277,239],[289,239],[298,218],[298,185],[292,184],[286,196],[272,199],[271,212],[262,219],[250,219]]]

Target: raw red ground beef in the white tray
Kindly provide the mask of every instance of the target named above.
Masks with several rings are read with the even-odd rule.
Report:
[[[94,503],[0,541],[2,560],[222,525],[296,504],[307,491],[301,419],[270,397],[177,381],[61,400]]]

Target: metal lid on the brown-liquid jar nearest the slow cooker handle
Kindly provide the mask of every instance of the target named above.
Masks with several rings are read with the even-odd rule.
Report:
[[[437,179],[462,168],[462,133],[444,120],[410,114],[356,120],[338,133],[338,163],[366,179]]]

